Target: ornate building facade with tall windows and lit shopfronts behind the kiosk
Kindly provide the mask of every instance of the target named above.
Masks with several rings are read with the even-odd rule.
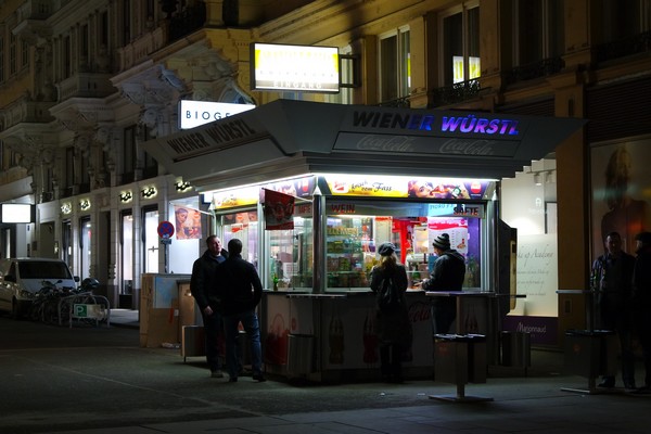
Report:
[[[548,177],[531,199],[553,204],[542,216],[553,213],[558,228],[557,288],[585,289],[612,209],[598,191],[602,153],[626,144],[646,155],[650,144],[650,30],[649,0],[2,2],[0,199],[34,204],[36,221],[2,225],[0,253],[62,257],[114,304],[135,306],[142,273],[187,273],[203,250],[199,239],[159,244],[159,222],[201,208],[205,186],[168,173],[142,144],[178,131],[180,100],[301,99],[588,119],[502,182]],[[252,90],[254,41],[336,47],[346,86],[336,95]],[[648,203],[651,179],[636,182]],[[502,218],[518,221],[508,205]],[[558,296],[559,330],[584,320],[580,297]]]

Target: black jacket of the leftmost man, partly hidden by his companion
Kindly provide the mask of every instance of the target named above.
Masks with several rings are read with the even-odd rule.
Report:
[[[196,299],[201,311],[210,306],[213,310],[221,309],[221,302],[218,294],[217,266],[219,261],[228,257],[228,252],[221,250],[221,256],[215,258],[210,251],[204,254],[192,265],[192,278],[190,279],[190,291]]]

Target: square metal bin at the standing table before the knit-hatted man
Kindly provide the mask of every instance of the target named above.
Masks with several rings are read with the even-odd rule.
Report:
[[[435,334],[434,378],[454,384],[486,382],[486,336]]]

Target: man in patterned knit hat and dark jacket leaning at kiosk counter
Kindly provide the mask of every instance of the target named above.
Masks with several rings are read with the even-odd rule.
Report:
[[[461,291],[465,278],[465,259],[450,248],[450,235],[442,233],[432,243],[436,253],[434,269],[430,279],[423,280],[421,289],[425,291]],[[455,297],[437,297],[433,302],[432,316],[436,326],[435,333],[448,333],[457,316]]]

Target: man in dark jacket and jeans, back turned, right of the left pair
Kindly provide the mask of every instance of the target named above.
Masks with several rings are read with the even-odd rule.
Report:
[[[251,365],[253,379],[266,381],[263,374],[263,350],[260,327],[255,308],[263,297],[263,284],[253,266],[242,258],[242,242],[232,239],[228,242],[228,259],[217,267],[224,324],[226,329],[226,361],[229,381],[238,381],[240,362],[238,360],[238,327],[242,323],[251,342]]]

